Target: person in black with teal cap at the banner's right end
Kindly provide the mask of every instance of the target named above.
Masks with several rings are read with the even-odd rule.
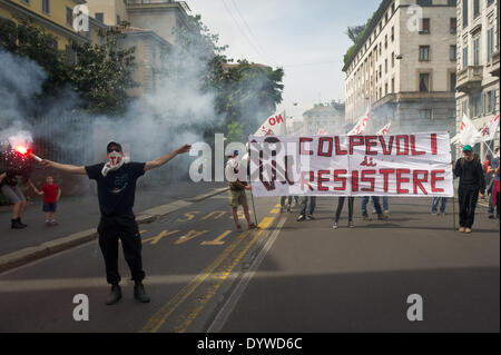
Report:
[[[454,175],[460,178],[458,195],[460,205],[460,231],[470,234],[475,217],[479,193],[485,197],[485,178],[480,157],[471,146],[463,147],[463,157],[455,162]]]

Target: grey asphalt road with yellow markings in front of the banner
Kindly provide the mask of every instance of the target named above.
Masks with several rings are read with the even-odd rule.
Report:
[[[429,199],[391,199],[389,221],[363,221],[357,201],[356,228],[333,230],[335,201],[297,223],[258,199],[262,229],[237,234],[222,194],[141,226],[147,305],[124,259],[124,299],[104,305],[97,243],[1,274],[0,332],[499,332],[499,225],[485,209],[465,236]],[[77,294],[88,322],[72,317]],[[412,294],[422,322],[406,317]]]

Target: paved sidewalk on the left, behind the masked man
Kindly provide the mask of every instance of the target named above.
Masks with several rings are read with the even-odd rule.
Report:
[[[225,187],[225,183],[176,183],[165,187],[138,188],[134,211],[138,221],[148,221],[155,215],[165,215],[183,208]],[[45,226],[41,207],[41,198],[28,203],[22,218],[28,228],[20,230],[10,228],[12,208],[0,208],[0,257],[82,231],[89,236],[89,240],[94,239],[92,231],[95,234],[100,216],[97,196],[61,198],[57,213],[60,225],[57,227]],[[157,207],[163,208],[156,210]],[[81,236],[75,237],[81,239]]]

